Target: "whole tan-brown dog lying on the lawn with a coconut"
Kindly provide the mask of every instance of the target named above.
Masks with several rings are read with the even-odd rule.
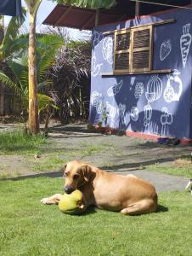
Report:
[[[133,175],[104,172],[82,161],[71,161],[64,168],[65,193],[82,191],[87,206],[137,215],[155,212],[157,194],[153,185]],[[43,204],[58,204],[62,195],[42,198]]]

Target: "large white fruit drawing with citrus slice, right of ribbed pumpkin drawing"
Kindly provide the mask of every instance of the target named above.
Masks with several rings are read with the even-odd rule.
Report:
[[[167,86],[164,90],[163,97],[167,103],[178,102],[182,95],[183,84],[182,80],[178,77],[180,72],[174,69],[173,72],[167,75]]]

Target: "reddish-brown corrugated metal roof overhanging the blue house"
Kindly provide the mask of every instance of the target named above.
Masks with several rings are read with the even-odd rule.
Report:
[[[111,9],[99,9],[99,26],[121,20],[132,19],[134,17],[134,2],[128,0],[116,0],[116,2],[116,6]],[[164,0],[158,0],[158,2],[165,3]],[[178,3],[176,0],[169,0],[167,3],[178,4],[182,6],[190,3],[190,0],[183,0],[180,3]],[[140,3],[139,14],[149,15],[153,12],[165,9],[170,8],[149,3]],[[95,16],[95,9],[82,9],[75,6],[58,4],[50,13],[50,15],[48,15],[48,17],[42,22],[42,24],[51,26],[66,26],[78,28],[81,30],[91,30],[95,26]]]

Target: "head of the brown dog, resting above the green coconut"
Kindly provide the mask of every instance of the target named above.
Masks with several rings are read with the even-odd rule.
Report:
[[[81,161],[71,161],[64,166],[65,193],[71,194],[74,190],[88,183],[92,168]]]

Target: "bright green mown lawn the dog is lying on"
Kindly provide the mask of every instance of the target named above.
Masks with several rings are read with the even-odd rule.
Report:
[[[40,204],[62,185],[62,179],[48,177],[0,182],[1,255],[192,254],[189,193],[160,193],[159,211],[148,215],[92,210],[70,216]]]

